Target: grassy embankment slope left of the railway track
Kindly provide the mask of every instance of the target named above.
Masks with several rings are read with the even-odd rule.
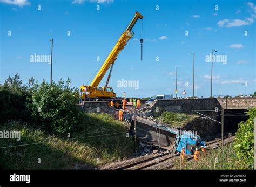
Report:
[[[53,136],[25,122],[0,126],[3,131],[21,131],[21,141],[1,139],[0,147],[38,143],[0,149],[2,169],[94,169],[133,154],[133,140],[126,137],[125,126],[107,114],[85,114],[83,130],[68,137]],[[79,129],[81,129],[79,128]],[[112,135],[107,135],[112,134]],[[43,142],[43,143],[41,143]],[[41,163],[38,163],[39,159]]]

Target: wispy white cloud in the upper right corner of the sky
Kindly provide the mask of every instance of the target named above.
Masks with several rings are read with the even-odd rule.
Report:
[[[247,17],[243,20],[241,19],[223,19],[220,20],[217,24],[219,27],[235,27],[235,26],[243,26],[243,25],[251,25],[252,23],[254,23],[254,19],[256,18],[256,6],[249,2],[247,3],[247,6],[253,11],[253,13],[251,13],[251,17]],[[236,13],[240,13],[239,11],[237,11]]]

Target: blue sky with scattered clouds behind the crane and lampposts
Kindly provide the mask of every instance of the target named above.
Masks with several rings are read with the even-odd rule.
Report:
[[[38,10],[40,6],[41,10]],[[97,10],[99,5],[100,10]],[[217,5],[217,6],[216,6]],[[114,64],[109,86],[118,96],[193,95],[195,52],[197,96],[210,96],[212,49],[226,63],[213,63],[213,95],[247,94],[255,86],[255,1],[107,1],[0,0],[0,81],[21,74],[50,81],[50,65],[31,62],[33,54],[49,55],[53,44],[53,81],[71,79],[71,86],[86,84],[97,71],[134,12],[143,16],[143,61],[140,61],[139,22],[133,38]],[[156,10],[159,8],[158,10]],[[11,35],[10,35],[11,31]],[[68,36],[70,31],[70,36]],[[186,33],[188,32],[188,35]],[[100,61],[97,61],[100,57]],[[157,57],[159,61],[157,61]],[[100,86],[105,85],[107,75]],[[139,82],[135,89],[118,87],[119,80]],[[90,84],[91,81],[88,82]]]

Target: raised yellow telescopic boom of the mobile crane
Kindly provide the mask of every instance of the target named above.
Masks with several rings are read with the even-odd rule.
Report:
[[[120,51],[122,51],[127,44],[127,42],[132,38],[133,32],[132,28],[136,24],[138,19],[142,19],[143,16],[140,15],[139,12],[136,12],[131,23],[126,28],[126,30],[122,33],[120,38],[118,39],[116,45],[114,45],[112,51],[109,53],[109,56],[107,56],[106,60],[104,61],[102,67],[100,68],[99,72],[97,73],[96,77],[91,82],[92,87],[97,87],[100,83],[100,81],[103,79],[104,75],[106,74],[107,70],[110,68],[110,66],[114,63],[114,61],[117,59],[118,54]]]

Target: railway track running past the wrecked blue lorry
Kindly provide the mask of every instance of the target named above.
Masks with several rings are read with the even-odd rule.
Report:
[[[232,142],[234,140],[234,137],[235,136],[224,137],[224,144]],[[206,145],[207,145],[206,148],[211,147],[213,149],[216,149],[221,146],[221,141],[219,141],[219,140],[207,141]],[[145,158],[144,160],[141,160],[141,161],[138,161],[135,163],[123,165],[122,167],[119,167],[117,169],[127,169],[127,170],[146,169],[146,168],[149,168],[153,165],[159,164],[164,161],[172,162],[172,160],[174,161],[177,158],[177,156],[179,156],[179,155],[180,155],[179,153],[177,153],[177,154],[170,154],[170,153],[159,154],[159,155],[156,155],[156,156],[153,156],[150,158]],[[193,158],[193,155],[188,156],[187,160],[191,160],[192,158]],[[168,168],[171,168],[173,165],[174,165],[174,163],[171,163]]]

